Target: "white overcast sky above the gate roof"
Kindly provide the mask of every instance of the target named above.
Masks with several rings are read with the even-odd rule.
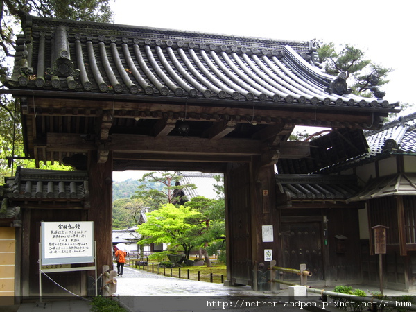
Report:
[[[115,24],[352,44],[367,58],[394,69],[388,86],[381,88],[387,93],[385,99],[416,102],[416,22],[411,0],[115,0],[112,9]]]

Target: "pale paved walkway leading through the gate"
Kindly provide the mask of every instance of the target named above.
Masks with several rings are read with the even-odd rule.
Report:
[[[316,288],[319,288],[316,286]],[[363,285],[353,286],[363,291],[378,291]],[[333,287],[328,288],[332,290]],[[385,295],[409,295],[400,291],[385,290]],[[125,267],[123,277],[117,277],[116,297],[130,312],[138,311],[307,311],[290,306],[288,291],[261,293],[249,286],[227,287],[204,281],[192,281],[164,277],[143,270]],[[318,299],[319,295],[308,293]],[[88,312],[87,300],[59,300],[47,302],[46,306],[35,303],[21,304],[17,312]],[[325,311],[325,310],[321,310]]]

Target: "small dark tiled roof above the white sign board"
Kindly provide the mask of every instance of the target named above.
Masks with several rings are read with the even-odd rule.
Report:
[[[88,200],[87,173],[19,167],[15,177],[6,179],[3,196],[35,200]]]

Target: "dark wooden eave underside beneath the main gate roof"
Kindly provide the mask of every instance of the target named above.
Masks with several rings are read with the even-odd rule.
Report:
[[[111,153],[115,171],[218,172],[229,162],[250,162],[256,156],[263,157],[265,164],[279,157],[301,158],[306,156],[304,147],[283,146],[290,145],[286,140],[295,125],[378,128],[388,114],[362,107],[356,112],[35,96],[22,97],[20,103],[25,153],[37,164],[62,162],[75,153],[93,151],[101,161]],[[182,122],[190,127],[185,137],[177,132]]]

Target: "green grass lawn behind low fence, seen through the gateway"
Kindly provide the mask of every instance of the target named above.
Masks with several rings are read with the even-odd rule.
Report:
[[[152,266],[153,264],[153,266]],[[157,264],[158,263],[149,263],[148,266],[144,266],[144,270],[148,272],[154,272],[157,274]],[[135,268],[135,266],[130,266],[131,268]],[[139,270],[143,270],[143,266],[137,267]],[[189,279],[193,279],[194,281],[198,281],[198,272],[200,281],[211,281],[211,273],[212,273],[212,282],[213,283],[223,283],[221,280],[221,275],[223,275],[223,279],[227,278],[227,266],[225,264],[214,264],[211,268],[207,268],[207,266],[184,266],[182,268],[159,268],[159,275],[177,277],[181,279],[188,279],[188,270],[189,270]]]

